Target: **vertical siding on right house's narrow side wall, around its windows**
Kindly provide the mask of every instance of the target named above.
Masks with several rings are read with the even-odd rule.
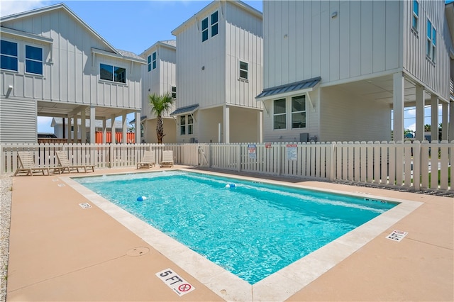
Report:
[[[450,56],[453,41],[445,17],[444,1],[419,1],[419,28],[413,30],[413,1],[404,6],[404,69],[445,100],[449,99]],[[427,21],[436,28],[436,60],[426,56]],[[450,46],[448,46],[450,45]]]

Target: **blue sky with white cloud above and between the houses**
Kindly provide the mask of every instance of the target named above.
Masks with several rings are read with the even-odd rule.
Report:
[[[453,0],[450,0],[453,1]],[[446,3],[450,2],[446,1]],[[243,0],[262,11],[262,0]],[[203,9],[211,1],[162,0],[162,1],[17,1],[0,0],[0,16],[38,9],[52,4],[65,3],[79,18],[82,18],[96,33],[111,45],[140,55],[160,40],[175,40],[172,30]],[[441,108],[438,110],[441,123]],[[415,110],[406,108],[405,129],[415,129]],[[430,124],[431,110],[426,108],[425,124]],[[134,117],[128,116],[128,121]],[[52,118],[38,117],[38,132],[53,133]]]

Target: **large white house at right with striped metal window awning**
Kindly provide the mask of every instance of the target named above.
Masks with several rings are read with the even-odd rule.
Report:
[[[404,140],[408,106],[419,140],[424,105],[432,138],[454,121],[444,1],[263,1],[263,20],[265,141]]]

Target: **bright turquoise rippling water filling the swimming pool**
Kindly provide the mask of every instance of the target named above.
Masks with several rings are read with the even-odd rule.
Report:
[[[250,284],[397,205],[180,171],[74,180]]]

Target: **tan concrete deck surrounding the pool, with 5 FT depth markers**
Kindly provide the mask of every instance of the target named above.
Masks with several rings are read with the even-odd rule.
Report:
[[[133,168],[99,169],[88,174],[14,177],[6,300],[234,300],[226,290],[223,291],[223,284],[217,284],[220,287],[215,292],[211,289],[213,286],[200,281],[203,279],[200,275],[211,272],[203,267],[195,273],[182,269],[163,255],[159,247],[150,245],[96,206],[90,196],[86,198],[64,181],[68,175],[136,171]],[[282,284],[270,283],[267,284],[268,296],[250,293],[255,301],[454,300],[454,198],[320,181],[278,180],[306,187],[416,201],[421,206],[389,225],[359,250],[340,259],[302,289],[280,299],[272,292],[279,292]],[[89,203],[92,208],[83,209],[79,203]],[[408,232],[400,242],[386,238],[396,229]],[[196,264],[199,261],[196,258],[183,260]],[[184,296],[173,292],[155,276],[168,268],[192,284],[195,290]],[[295,278],[311,272],[298,274]],[[292,282],[287,279],[287,283]],[[228,284],[225,285],[228,289]]]

